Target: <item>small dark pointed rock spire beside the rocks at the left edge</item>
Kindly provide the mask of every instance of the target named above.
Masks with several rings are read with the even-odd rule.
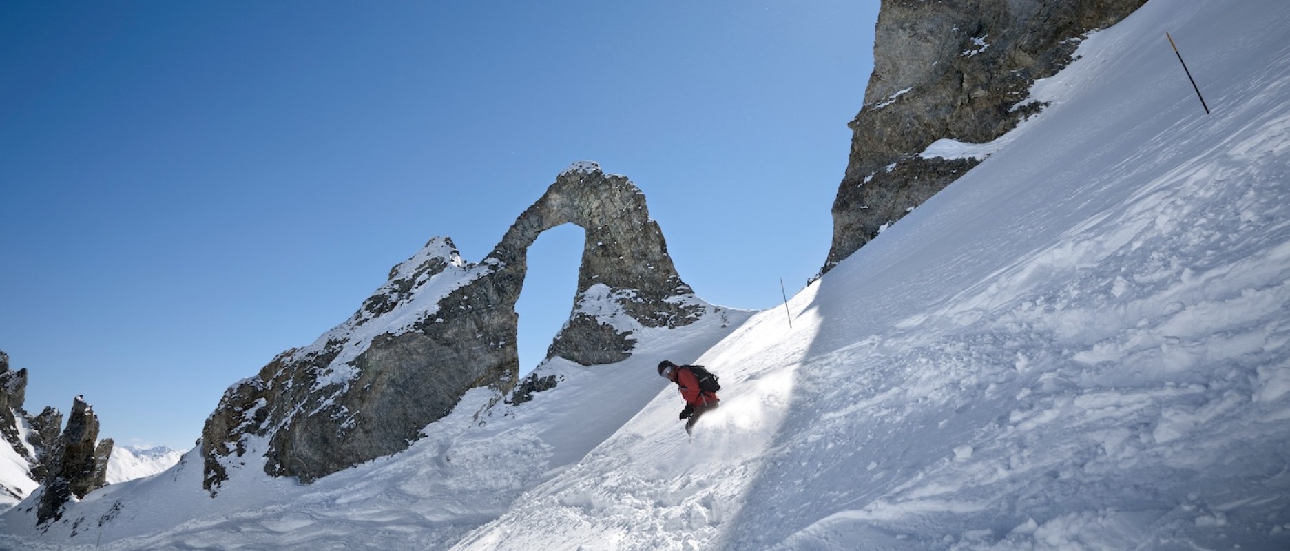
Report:
[[[63,505],[75,496],[83,498],[104,485],[107,457],[112,453],[112,440],[98,440],[98,416],[83,396],[72,401],[67,428],[58,436],[41,480],[45,489],[36,510],[36,523],[44,524],[62,517]]]

